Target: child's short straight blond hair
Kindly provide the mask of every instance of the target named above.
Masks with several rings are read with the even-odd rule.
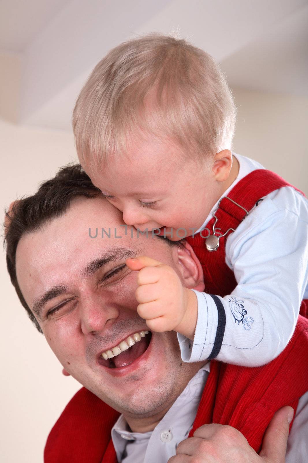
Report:
[[[229,149],[235,106],[213,58],[182,39],[151,33],[109,51],[76,102],[81,162],[96,166],[149,134],[203,156]]]

